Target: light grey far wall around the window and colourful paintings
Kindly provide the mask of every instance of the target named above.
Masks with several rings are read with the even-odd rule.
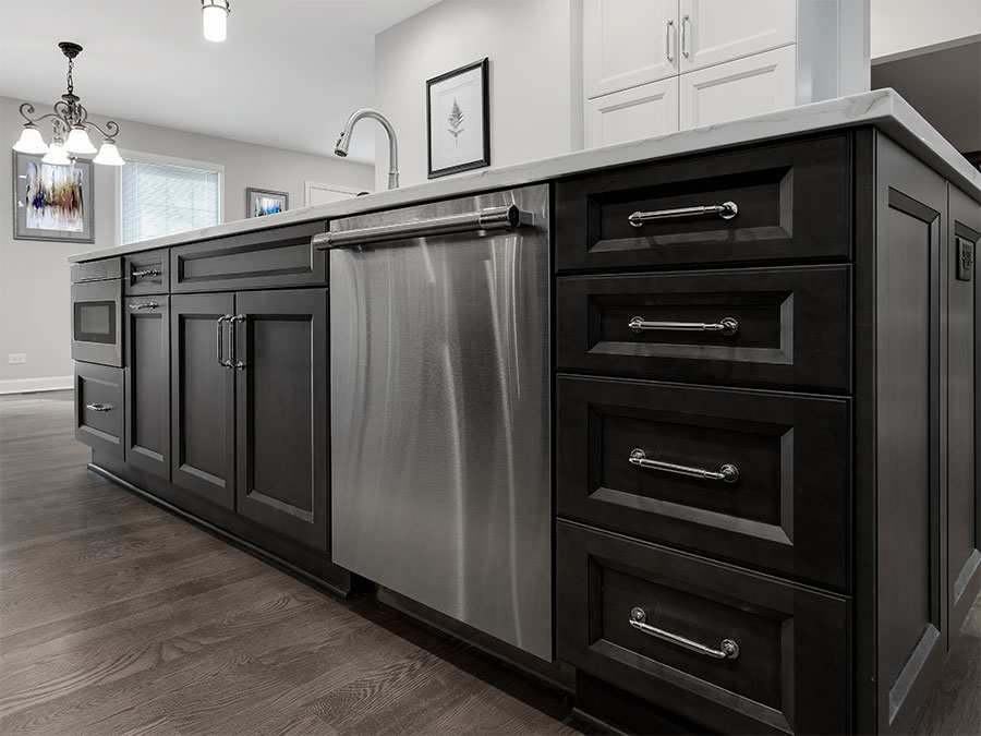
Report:
[[[69,266],[72,253],[113,245],[117,236],[116,170],[94,166],[95,245],[13,239],[13,156],[21,134],[22,100],[0,97],[0,393],[44,388],[72,373]],[[53,101],[53,100],[51,100]],[[38,110],[49,105],[34,102]],[[105,118],[93,116],[102,123]],[[290,207],[302,207],[304,181],[373,189],[373,169],[336,158],[310,156],[184,131],[116,119],[124,150],[158,154],[225,166],[225,219],[245,217],[245,188],[290,193]],[[43,125],[45,140],[50,129]],[[98,145],[96,136],[94,143]],[[10,353],[27,362],[9,365]]]

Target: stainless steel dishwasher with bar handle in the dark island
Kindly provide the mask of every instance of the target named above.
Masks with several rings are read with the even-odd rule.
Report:
[[[553,659],[548,189],[335,220],[334,562]]]

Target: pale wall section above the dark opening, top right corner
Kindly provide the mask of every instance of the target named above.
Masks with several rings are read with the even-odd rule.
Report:
[[[981,0],[872,0],[872,59],[981,34]]]

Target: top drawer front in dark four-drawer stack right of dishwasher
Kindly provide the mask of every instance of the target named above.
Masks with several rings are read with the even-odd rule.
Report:
[[[560,181],[562,270],[845,258],[851,253],[849,138],[705,156]],[[718,207],[723,213],[668,210]],[[633,213],[657,213],[640,227]],[[726,215],[723,217],[722,215]]]

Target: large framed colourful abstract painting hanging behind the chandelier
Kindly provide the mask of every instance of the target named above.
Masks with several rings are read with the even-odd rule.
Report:
[[[45,164],[13,152],[14,239],[95,242],[92,161]]]

